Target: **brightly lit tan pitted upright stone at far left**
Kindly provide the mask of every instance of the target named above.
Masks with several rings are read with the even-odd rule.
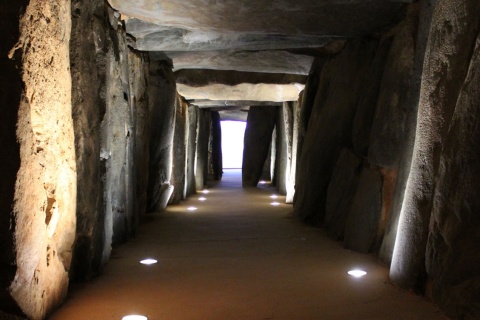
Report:
[[[65,298],[75,239],[70,9],[70,1],[31,0],[20,24],[24,91],[17,124],[17,270],[9,290],[33,319],[44,318]]]

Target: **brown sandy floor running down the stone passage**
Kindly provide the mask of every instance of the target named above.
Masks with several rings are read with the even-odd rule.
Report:
[[[226,170],[209,194],[153,215],[50,319],[446,319],[391,285],[375,257],[292,217],[283,197],[271,206],[272,187],[240,185],[239,172]],[[158,263],[144,266],[143,258]],[[368,274],[352,278],[353,268]]]

